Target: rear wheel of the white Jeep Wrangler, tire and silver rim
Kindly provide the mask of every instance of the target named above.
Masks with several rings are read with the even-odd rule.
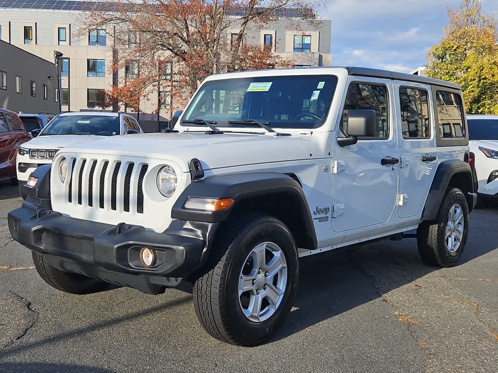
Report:
[[[463,221],[463,228],[460,224],[451,226],[450,209],[453,208],[455,216],[458,221]],[[457,212],[455,212],[457,211]],[[448,229],[448,230],[447,230]],[[460,231],[462,231],[460,233]],[[447,238],[447,233],[450,232],[450,237]],[[469,233],[469,207],[464,193],[459,188],[453,188],[447,191],[443,203],[439,209],[438,217],[433,222],[423,222],[417,229],[417,246],[418,252],[422,260],[430,265],[436,267],[453,267],[455,266],[467,243],[467,236]],[[454,238],[453,238],[454,237]],[[450,239],[454,239],[453,246]],[[458,247],[456,247],[457,240],[460,239]],[[452,249],[449,247],[452,246]]]

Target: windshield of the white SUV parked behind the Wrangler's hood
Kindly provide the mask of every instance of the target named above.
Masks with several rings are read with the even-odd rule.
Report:
[[[48,123],[40,135],[120,134],[120,119],[108,115],[59,115]]]

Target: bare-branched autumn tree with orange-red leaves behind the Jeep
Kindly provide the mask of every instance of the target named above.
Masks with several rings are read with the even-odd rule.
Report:
[[[108,30],[112,69],[124,71],[130,61],[138,73],[106,91],[101,106],[111,103],[138,108],[140,96],[167,91],[182,108],[207,76],[215,73],[292,67],[293,61],[245,39],[249,29],[292,8],[309,23],[320,20],[310,9],[321,0],[114,0],[92,11],[81,29]],[[289,26],[293,22],[287,18]],[[294,27],[296,28],[296,27]],[[276,42],[274,40],[273,42]],[[133,62],[133,63],[134,63]]]

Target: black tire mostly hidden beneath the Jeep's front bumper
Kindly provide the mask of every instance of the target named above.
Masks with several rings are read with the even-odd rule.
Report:
[[[61,271],[43,260],[43,254],[31,252],[33,264],[40,277],[53,288],[71,294],[92,294],[107,290],[110,284],[96,279]]]

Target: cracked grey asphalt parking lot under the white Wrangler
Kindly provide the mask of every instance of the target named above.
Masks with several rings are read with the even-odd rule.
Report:
[[[192,296],[58,292],[12,241],[17,188],[0,184],[0,372],[497,372],[498,203],[471,215],[458,267],[425,266],[415,241],[301,261],[289,319],[267,344],[230,346]]]

